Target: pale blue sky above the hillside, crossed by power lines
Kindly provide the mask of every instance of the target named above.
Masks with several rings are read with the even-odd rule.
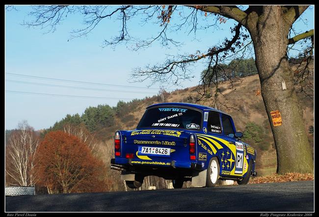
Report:
[[[213,33],[198,30],[196,40],[194,40],[193,34],[185,34],[184,29],[171,34],[174,39],[184,44],[178,49],[174,47],[171,49],[162,48],[160,43],[156,42],[148,49],[134,52],[127,49],[126,45],[119,45],[115,50],[111,47],[101,47],[104,39],[109,39],[118,31],[118,23],[113,20],[103,21],[87,37],[68,41],[70,31],[81,27],[82,19],[80,17],[70,16],[57,27],[55,32],[44,34],[45,31],[39,28],[27,28],[21,25],[24,20],[30,20],[30,17],[27,16],[30,6],[16,6],[16,8],[18,11],[5,12],[5,73],[124,86],[149,86],[150,81],[132,83],[132,80],[129,80],[133,68],[143,67],[148,63],[160,63],[165,60],[166,54],[183,54],[185,52],[194,54],[196,50],[205,52],[210,46],[217,44],[225,37],[230,38],[229,28],[234,25],[234,22],[229,20],[225,24],[219,25],[220,29]],[[304,25],[303,22],[297,22],[297,29],[305,31],[314,28],[314,9],[307,9],[303,19],[307,19],[308,26]],[[160,30],[158,25],[150,23],[139,27],[139,23],[139,20],[136,19],[128,23],[132,36],[151,36]],[[172,19],[171,24],[174,24],[174,19]],[[196,63],[191,68],[193,79],[182,82],[181,86],[164,85],[169,89],[195,86],[198,84],[200,72],[204,68],[203,62]],[[10,74],[5,74],[5,80],[5,90],[9,91],[116,98],[87,99],[5,92],[5,129],[16,128],[22,120],[27,120],[35,130],[49,128],[66,114],[79,113],[81,115],[89,106],[99,104],[116,106],[120,98],[140,99],[153,96],[159,91],[159,89],[137,89],[32,79]],[[163,84],[157,83],[151,87],[159,88],[160,85]],[[77,89],[76,87],[87,89]],[[95,90],[92,90],[94,88]],[[97,88],[99,90],[96,90]]]

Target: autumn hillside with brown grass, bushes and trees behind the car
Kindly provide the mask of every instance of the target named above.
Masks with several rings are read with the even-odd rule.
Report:
[[[248,65],[251,61],[248,59],[243,61],[244,64],[238,68],[235,67],[234,78],[236,80],[232,82],[221,81],[218,86],[220,91],[218,103],[214,102],[213,94],[206,95],[201,101],[196,102],[196,98],[199,97],[196,86],[172,92],[160,90],[158,95],[142,100],[119,101],[115,107],[98,105],[97,107],[88,107],[81,115],[67,114],[51,128],[44,130],[41,135],[34,132],[34,129],[25,122],[20,125],[19,129],[6,131],[6,140],[8,141],[6,143],[6,184],[27,186],[35,184],[38,187],[38,193],[128,190],[125,183],[120,180],[120,172],[110,169],[110,159],[114,158],[114,133],[116,130],[135,129],[145,108],[161,102],[196,103],[229,113],[234,119],[237,131],[244,133],[242,140],[257,149],[256,168],[259,176],[276,172],[276,150],[261,97],[259,77],[256,73],[252,76],[244,73],[246,76],[240,77],[239,73],[243,70],[241,67]],[[301,64],[304,63],[301,62]],[[227,67],[225,66],[225,68]],[[298,64],[292,64],[292,68],[297,72]],[[309,79],[312,83],[313,72],[312,62],[309,72]],[[250,73],[254,74],[254,69]],[[211,87],[212,92],[214,88],[216,87]],[[297,86],[295,91],[303,110],[304,128],[308,133],[310,143],[309,149],[313,153],[313,87],[308,86],[306,89],[300,89]],[[304,91],[307,94],[304,94]],[[17,143],[17,141],[28,142]],[[53,145],[53,141],[55,145]],[[16,163],[18,153],[15,150],[22,151],[23,147],[26,151],[23,154],[25,157],[21,159],[21,163]],[[35,150],[37,150],[37,154],[35,154]],[[83,161],[79,161],[79,157]],[[58,161],[53,161],[57,159]],[[86,160],[84,161],[84,159]],[[69,160],[67,161],[68,168],[59,167],[66,160]],[[19,165],[26,165],[26,167],[20,168]],[[75,165],[78,168],[75,168]],[[84,173],[91,175],[85,177],[82,175]],[[20,174],[26,174],[23,180],[20,180]],[[82,184],[78,185],[74,180],[74,184],[67,185],[63,179],[67,178],[67,174],[69,177],[76,176],[75,180],[82,178]],[[148,177],[145,178],[140,189],[148,189],[149,186],[156,186],[157,189],[168,188],[168,185],[169,182],[161,178]],[[187,182],[185,185],[187,186],[189,183]]]

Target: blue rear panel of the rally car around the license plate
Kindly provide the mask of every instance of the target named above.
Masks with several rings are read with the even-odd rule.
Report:
[[[185,131],[167,129],[145,129],[120,131],[121,156],[115,157],[117,164],[144,165],[152,167],[173,166],[190,168],[189,137]],[[139,155],[138,148],[170,148],[169,156]],[[127,153],[133,154],[133,159],[127,159]]]

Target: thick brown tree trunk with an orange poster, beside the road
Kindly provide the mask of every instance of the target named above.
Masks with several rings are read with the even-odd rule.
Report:
[[[261,92],[277,150],[277,173],[313,173],[311,147],[302,109],[293,87],[293,71],[287,59],[289,26],[280,6],[264,6],[257,25],[250,28]],[[283,90],[285,81],[287,90]],[[271,111],[279,110],[281,126],[274,126]]]

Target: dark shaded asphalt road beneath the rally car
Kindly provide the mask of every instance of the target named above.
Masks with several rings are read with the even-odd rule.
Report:
[[[6,196],[5,212],[314,212],[314,181]]]

